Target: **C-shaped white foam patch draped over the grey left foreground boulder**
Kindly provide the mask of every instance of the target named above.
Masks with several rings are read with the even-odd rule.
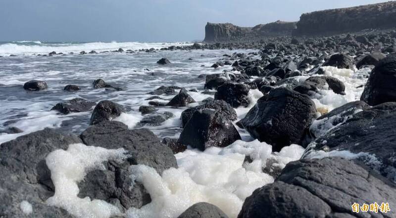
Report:
[[[117,207],[89,197],[79,198],[78,182],[91,170],[103,169],[103,161],[125,158],[124,149],[107,150],[84,144],[70,144],[67,150],[49,153],[46,163],[55,186],[54,196],[47,200],[50,206],[65,209],[77,218],[110,218],[120,215]]]

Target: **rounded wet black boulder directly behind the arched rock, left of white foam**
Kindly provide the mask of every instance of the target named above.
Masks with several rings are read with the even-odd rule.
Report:
[[[217,87],[214,99],[224,100],[232,107],[247,107],[250,103],[248,98],[250,88],[245,84],[226,83]]]

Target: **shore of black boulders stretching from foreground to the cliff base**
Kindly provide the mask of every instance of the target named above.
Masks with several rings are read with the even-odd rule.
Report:
[[[139,177],[142,174],[138,169],[145,166],[159,175],[177,169],[174,154],[194,148],[200,151],[211,147],[226,148],[241,139],[237,128],[272,145],[272,152],[279,152],[291,144],[306,148],[299,160],[289,163],[283,170],[276,160],[268,160],[261,166],[275,181],[252,192],[238,218],[395,217],[395,36],[395,31],[380,31],[324,38],[283,37],[276,41],[270,38],[267,42],[253,44],[194,44],[179,48],[239,46],[254,47],[257,52],[225,54],[212,67],[232,65],[232,71],[203,75],[202,87],[212,90],[213,98],[184,110],[178,139],[160,139],[147,129],[128,129],[123,123],[113,121],[126,110],[113,101],[101,99],[97,103],[76,98],[61,102],[52,109],[64,114],[90,111],[94,107],[91,126],[80,135],[45,129],[2,143],[0,217],[132,216],[130,208],[142,208],[156,201],[150,185]],[[259,59],[252,58],[257,55]],[[172,66],[167,59],[159,60],[158,64]],[[343,81],[332,72],[357,74],[358,69],[367,69],[367,73],[356,75],[367,79],[367,84],[361,87],[364,90],[360,101],[356,99],[338,108],[315,105],[314,101],[323,91],[340,96],[346,94]],[[92,86],[119,90],[103,80],[94,81]],[[48,85],[35,80],[23,88],[41,91]],[[157,113],[158,108],[188,107],[196,102],[189,94],[196,90],[188,89],[168,86],[150,92],[150,105],[142,105],[139,109],[146,114],[141,123],[156,125],[174,116]],[[79,87],[68,85],[65,90],[79,90]],[[243,119],[238,120],[235,109],[248,107],[250,90],[258,90],[263,96]],[[174,97],[168,103],[157,101],[166,95]],[[237,126],[233,122],[237,122]],[[65,154],[57,154],[61,151]],[[81,155],[81,159],[72,154]],[[98,154],[99,159],[91,160],[90,154]],[[245,162],[251,162],[251,158],[246,156]],[[83,167],[80,177],[70,177],[79,169],[79,164]],[[134,179],[134,176],[137,177]],[[63,188],[76,191],[63,193]],[[29,205],[28,209],[21,206],[25,200],[33,208],[31,213]],[[374,202],[389,203],[391,211],[357,214],[351,210],[353,203]],[[96,204],[101,209],[95,209]],[[197,202],[190,206],[177,216],[231,216],[228,211],[226,214],[208,203]],[[103,208],[107,210],[105,214],[101,214]]]

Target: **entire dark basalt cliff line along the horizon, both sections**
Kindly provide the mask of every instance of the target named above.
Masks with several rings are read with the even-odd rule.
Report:
[[[260,41],[279,36],[330,36],[396,27],[396,1],[304,13],[298,22],[276,21],[255,27],[207,23],[206,43]]]

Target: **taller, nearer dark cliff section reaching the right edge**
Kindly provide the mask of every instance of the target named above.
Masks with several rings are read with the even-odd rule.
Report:
[[[294,36],[334,35],[396,26],[396,1],[302,14]]]

